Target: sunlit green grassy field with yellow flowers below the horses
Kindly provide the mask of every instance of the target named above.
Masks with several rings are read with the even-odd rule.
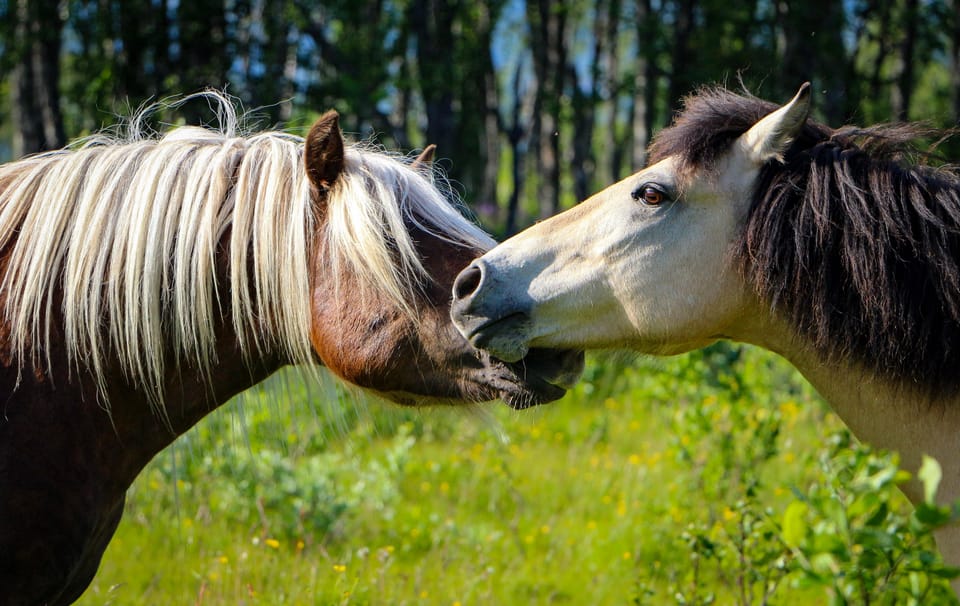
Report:
[[[749,348],[593,359],[524,412],[288,373],[141,475],[80,604],[941,603],[902,476]]]

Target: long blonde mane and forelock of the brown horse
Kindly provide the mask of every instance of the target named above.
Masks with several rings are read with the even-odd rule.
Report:
[[[208,96],[226,122],[220,130],[145,137],[138,116],[126,137],[0,166],[0,298],[21,368],[49,368],[62,343],[71,367],[88,368],[105,394],[116,359],[162,414],[166,370],[186,363],[209,374],[224,317],[248,358],[313,362],[309,261],[320,215],[303,140],[236,136],[231,102]],[[429,276],[405,219],[461,245],[493,242],[408,164],[348,146],[323,229],[332,267],[409,314]],[[222,242],[229,283],[218,285]]]

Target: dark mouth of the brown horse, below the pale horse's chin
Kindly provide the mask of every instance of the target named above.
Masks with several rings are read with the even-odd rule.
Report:
[[[534,348],[517,362],[491,362],[502,364],[509,373],[500,399],[523,410],[562,398],[583,373],[584,355],[579,350]]]

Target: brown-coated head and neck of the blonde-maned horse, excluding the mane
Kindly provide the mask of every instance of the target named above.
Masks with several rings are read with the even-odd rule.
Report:
[[[314,125],[302,156],[322,227],[326,204],[347,170],[336,114]],[[423,179],[403,170],[410,173],[405,179]],[[15,177],[10,170],[0,177],[0,200]],[[523,407],[562,395],[563,388],[554,383],[570,381],[581,355],[540,352],[523,366],[506,365],[479,354],[459,335],[446,307],[450,285],[485,246],[481,240],[470,243],[437,233],[443,224],[430,219],[410,214],[403,221],[425,275],[412,288],[416,297],[406,302],[408,309],[369,284],[355,283],[349,266],[333,267],[327,232],[317,230],[308,251],[309,341],[315,361],[400,403],[499,397]],[[43,343],[29,344],[28,355],[11,336],[17,332],[16,318],[11,320],[8,311],[0,323],[0,604],[77,599],[95,575],[122,516],[126,490],[143,467],[233,395],[283,365],[302,362],[284,353],[289,347],[265,340],[251,348],[250,335],[237,334],[231,317],[236,306],[224,303],[237,286],[231,284],[232,237],[226,230],[216,247],[212,279],[220,311],[213,314],[215,325],[207,327],[213,335],[207,359],[197,363],[190,352],[164,345],[161,385],[131,372],[110,347],[97,360],[99,371],[71,353],[63,344],[68,312],[61,311],[62,292],[50,295],[50,317],[44,318],[50,332]],[[2,247],[2,276],[10,272],[15,243],[8,239]],[[250,290],[260,296],[259,288]],[[346,296],[358,293],[363,297]],[[8,291],[0,291],[0,308],[8,297]],[[118,319],[98,321],[106,332]],[[159,411],[158,391],[163,396]]]

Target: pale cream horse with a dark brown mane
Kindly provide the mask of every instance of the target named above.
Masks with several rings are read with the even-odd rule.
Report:
[[[916,126],[833,130],[723,89],[687,99],[651,164],[474,261],[453,319],[531,347],[678,354],[732,339],[793,363],[853,433],[943,467],[960,498],[960,178],[909,163]],[[905,492],[923,498],[917,481]],[[960,564],[960,529],[937,534]],[[958,589],[958,584],[954,584]]]

